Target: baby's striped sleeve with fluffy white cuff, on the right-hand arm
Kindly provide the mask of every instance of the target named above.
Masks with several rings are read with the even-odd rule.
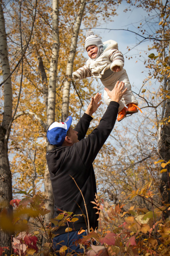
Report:
[[[113,71],[113,67],[119,66],[120,71],[123,69],[124,66],[124,57],[121,51],[112,48],[109,52],[109,59],[112,61],[110,69]]]

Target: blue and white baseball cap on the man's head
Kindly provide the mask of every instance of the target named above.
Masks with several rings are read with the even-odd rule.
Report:
[[[63,144],[71,122],[72,117],[68,116],[65,122],[54,122],[50,125],[47,131],[47,139],[51,145],[59,147]]]

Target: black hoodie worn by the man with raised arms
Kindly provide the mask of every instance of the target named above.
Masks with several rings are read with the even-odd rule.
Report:
[[[98,215],[91,203],[97,193],[92,163],[114,127],[118,108],[119,103],[111,101],[98,127],[86,138],[85,135],[92,117],[84,113],[74,128],[78,132],[79,142],[72,146],[55,147],[47,152],[46,159],[54,195],[54,217],[61,213],[60,210],[74,214],[83,212],[86,216],[79,187],[85,198],[90,228],[98,227]],[[71,176],[75,179],[78,187]],[[74,230],[80,230],[81,227],[87,229],[83,216],[79,216],[78,221],[73,224],[69,222],[69,227]],[[65,229],[66,226],[61,226],[56,233],[64,234]]]

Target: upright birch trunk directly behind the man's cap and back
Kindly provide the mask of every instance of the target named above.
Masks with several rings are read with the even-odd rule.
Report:
[[[52,1],[52,56],[50,63],[50,78],[48,84],[48,106],[47,106],[47,129],[54,122],[55,119],[55,105],[56,105],[56,79],[57,79],[57,65],[59,56],[59,31],[58,31],[58,0]],[[46,130],[47,131],[47,130]],[[47,151],[51,150],[52,146],[47,141]],[[53,217],[54,213],[54,199],[50,181],[50,173],[48,166],[45,167],[44,175],[44,192],[46,196],[46,208],[51,210],[50,213],[45,215],[45,221],[49,222],[49,219]]]

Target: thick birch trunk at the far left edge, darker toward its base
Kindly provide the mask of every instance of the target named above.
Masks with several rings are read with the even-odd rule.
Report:
[[[8,139],[10,135],[10,121],[12,118],[12,86],[10,78],[10,65],[8,60],[7,39],[2,4],[0,2],[0,60],[3,80],[4,111],[0,126],[0,202],[4,202],[7,214],[12,214],[10,200],[12,200],[12,176],[8,159]],[[10,246],[10,234],[0,231],[0,245]],[[10,251],[7,252],[10,255]]]

